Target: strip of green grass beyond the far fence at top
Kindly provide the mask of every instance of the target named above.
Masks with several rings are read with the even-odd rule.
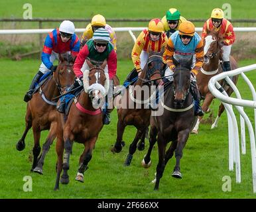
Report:
[[[253,0],[247,1],[101,1],[101,0],[74,0],[74,1],[26,1],[12,0],[8,2],[8,10],[5,9],[6,3],[1,1],[1,17],[23,17],[23,5],[31,3],[33,17],[51,17],[51,18],[91,18],[97,13],[105,15],[106,18],[153,18],[162,17],[170,7],[176,7],[182,13],[182,16],[188,19],[207,19],[210,17],[212,9],[222,8],[224,3],[229,3],[232,9],[232,19],[253,19],[255,13],[251,8],[255,5]],[[61,12],[60,12],[61,11]]]

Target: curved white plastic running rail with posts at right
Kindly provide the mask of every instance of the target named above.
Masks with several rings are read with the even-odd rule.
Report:
[[[256,64],[251,66],[245,66],[242,68],[237,68],[235,70],[224,72],[222,74],[218,74],[210,79],[208,83],[208,87],[217,99],[222,101],[226,111],[227,111],[227,121],[228,121],[228,134],[229,134],[229,170],[233,171],[233,164],[235,163],[235,174],[236,174],[236,182],[241,182],[241,168],[240,168],[240,150],[239,150],[239,131],[237,127],[237,120],[235,117],[235,113],[233,113],[232,105],[237,109],[240,114],[240,128],[241,128],[241,153],[245,154],[245,123],[247,125],[249,131],[249,138],[251,144],[251,165],[252,165],[252,175],[253,175],[253,193],[256,193],[256,149],[255,149],[255,137],[256,137],[256,92],[255,88],[251,81],[245,76],[243,72],[249,72],[252,70],[256,70]],[[241,78],[249,86],[251,90],[253,101],[241,99],[241,95],[228,76],[236,76],[240,74]],[[229,85],[231,85],[236,98],[228,97],[227,93],[225,93],[224,89],[218,83],[221,79],[225,79]],[[243,107],[251,107],[254,109],[254,122],[255,122],[255,132],[253,132],[253,125],[249,120],[247,114],[243,111]]]

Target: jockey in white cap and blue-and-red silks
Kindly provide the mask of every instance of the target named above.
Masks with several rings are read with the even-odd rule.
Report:
[[[71,52],[73,56],[78,55],[80,50],[80,41],[76,36],[74,23],[71,21],[63,21],[60,28],[55,28],[50,32],[45,39],[44,48],[42,49],[42,64],[36,76],[32,79],[29,91],[27,91],[24,101],[28,102],[32,98],[34,86],[39,79],[46,73],[54,72],[57,66],[53,66],[54,60],[58,60],[58,54]]]

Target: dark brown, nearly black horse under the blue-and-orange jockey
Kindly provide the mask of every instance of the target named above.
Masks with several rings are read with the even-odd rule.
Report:
[[[173,74],[173,83],[168,82],[164,86],[164,102],[160,101],[159,107],[164,111],[161,116],[151,117],[150,146],[144,158],[145,164],[150,162],[151,150],[157,141],[159,148],[159,163],[157,164],[157,175],[155,190],[159,189],[160,178],[164,168],[172,158],[175,151],[176,165],[172,173],[174,178],[182,178],[180,172],[180,159],[182,150],[186,145],[191,129],[196,123],[194,116],[193,98],[190,93],[190,70],[192,57],[189,60],[176,61],[176,69]],[[172,142],[166,151],[168,142]],[[148,167],[148,166],[147,166]]]

